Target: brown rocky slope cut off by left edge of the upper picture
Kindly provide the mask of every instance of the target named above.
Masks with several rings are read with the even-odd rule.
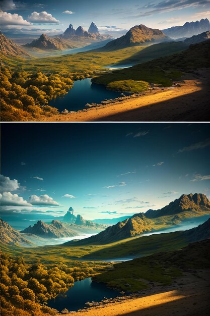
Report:
[[[0,53],[4,56],[29,56],[24,49],[16,45],[2,32],[0,32]]]

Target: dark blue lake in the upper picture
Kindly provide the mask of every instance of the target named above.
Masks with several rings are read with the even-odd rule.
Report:
[[[65,109],[79,111],[87,109],[85,107],[87,103],[100,103],[104,99],[109,100],[119,96],[122,96],[120,92],[107,90],[104,85],[92,83],[91,78],[87,78],[75,81],[73,88],[67,94],[51,100],[49,105],[57,108],[59,112]]]

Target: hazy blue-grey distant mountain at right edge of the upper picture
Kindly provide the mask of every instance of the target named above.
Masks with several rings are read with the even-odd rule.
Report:
[[[183,26],[172,26],[162,31],[167,36],[176,39],[180,37],[191,37],[209,30],[210,23],[208,19],[201,19],[196,22],[186,22]]]

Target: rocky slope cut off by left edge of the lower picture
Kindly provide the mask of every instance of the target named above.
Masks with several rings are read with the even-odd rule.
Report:
[[[21,233],[12,228],[7,222],[0,219],[0,237],[1,242],[4,244],[30,244],[30,242],[24,238]]]

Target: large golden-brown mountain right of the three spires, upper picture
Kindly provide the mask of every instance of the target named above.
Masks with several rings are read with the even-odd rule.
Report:
[[[169,41],[170,38],[158,29],[143,24],[133,26],[125,35],[106,44],[101,50],[114,50],[151,42]]]

